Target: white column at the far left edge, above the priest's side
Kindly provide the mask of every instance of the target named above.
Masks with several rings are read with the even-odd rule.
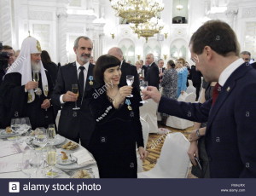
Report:
[[[11,16],[11,1],[1,0],[1,12],[0,12],[0,25],[1,34],[0,41],[3,41],[3,45],[12,46],[12,16]]]

